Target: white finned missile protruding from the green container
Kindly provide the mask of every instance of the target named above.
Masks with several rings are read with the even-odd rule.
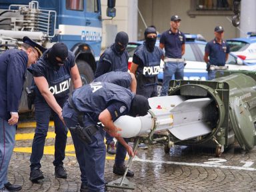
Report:
[[[210,113],[207,106],[210,98],[185,99],[173,95],[149,98],[151,112],[143,117],[122,116],[114,124],[121,128],[121,137],[148,136],[155,127],[155,133],[169,130],[179,140],[191,139],[211,133],[207,125]]]

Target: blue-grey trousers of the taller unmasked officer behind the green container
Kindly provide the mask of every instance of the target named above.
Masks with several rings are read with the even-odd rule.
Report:
[[[184,63],[183,62],[167,62],[163,71],[163,85],[161,96],[166,96],[169,89],[169,82],[175,75],[175,79],[183,79],[184,77]]]

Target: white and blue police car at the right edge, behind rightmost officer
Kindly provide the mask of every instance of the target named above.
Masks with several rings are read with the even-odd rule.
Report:
[[[248,32],[245,38],[227,39],[230,51],[248,65],[256,64],[256,32]]]

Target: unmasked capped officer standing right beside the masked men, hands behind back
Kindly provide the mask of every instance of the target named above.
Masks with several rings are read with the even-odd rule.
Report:
[[[165,48],[165,68],[163,71],[163,87],[161,96],[167,95],[169,82],[175,75],[175,79],[183,79],[184,76],[184,59],[185,53],[185,35],[179,31],[181,18],[178,15],[171,16],[171,29],[163,32],[160,38],[161,49]]]

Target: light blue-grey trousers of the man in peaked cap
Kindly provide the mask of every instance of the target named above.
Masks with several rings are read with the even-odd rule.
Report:
[[[0,189],[8,182],[7,172],[15,145],[16,127],[0,117]]]

